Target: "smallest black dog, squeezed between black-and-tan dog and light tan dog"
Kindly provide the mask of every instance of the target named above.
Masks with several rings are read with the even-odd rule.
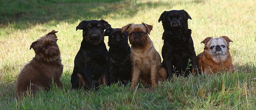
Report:
[[[122,29],[116,28],[105,30],[108,36],[108,69],[109,83],[116,83],[118,80],[122,84],[128,84],[131,80],[132,64],[130,59],[130,46],[128,44],[127,32],[122,33]]]

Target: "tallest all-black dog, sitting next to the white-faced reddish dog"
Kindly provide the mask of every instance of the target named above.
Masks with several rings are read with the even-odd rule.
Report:
[[[162,65],[167,71],[169,81],[175,73],[184,77],[190,72],[197,74],[197,58],[191,29],[188,29],[188,19],[191,17],[186,11],[172,10],[164,11],[158,20],[158,22],[162,21],[164,27]],[[189,66],[189,63],[192,66]]]

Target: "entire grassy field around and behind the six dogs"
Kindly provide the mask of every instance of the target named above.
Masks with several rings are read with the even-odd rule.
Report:
[[[256,109],[256,2],[253,0],[9,0],[0,3],[0,109]],[[128,23],[153,25],[150,38],[161,54],[163,11],[184,9],[196,54],[206,37],[228,36],[233,64],[240,71],[214,76],[179,77],[157,87],[137,90],[113,84],[96,90],[71,90],[73,61],[80,48],[82,20],[108,21],[113,28]],[[52,88],[16,99],[14,84],[34,57],[30,44],[56,30],[64,71],[63,90]],[[105,43],[108,38],[105,37]],[[107,47],[108,48],[108,47]]]

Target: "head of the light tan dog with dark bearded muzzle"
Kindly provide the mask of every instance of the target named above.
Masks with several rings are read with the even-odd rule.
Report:
[[[148,43],[148,34],[151,32],[153,26],[142,23],[142,24],[127,24],[122,27],[122,32],[127,32],[129,41],[132,46],[139,47],[144,46]]]

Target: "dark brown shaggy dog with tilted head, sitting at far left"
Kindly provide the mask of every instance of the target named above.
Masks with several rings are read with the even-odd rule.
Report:
[[[18,75],[14,87],[15,96],[23,96],[26,91],[27,94],[35,94],[36,91],[49,90],[52,81],[63,88],[60,80],[63,65],[56,43],[56,32],[58,31],[53,30],[31,44],[30,49],[33,48],[36,55]]]

